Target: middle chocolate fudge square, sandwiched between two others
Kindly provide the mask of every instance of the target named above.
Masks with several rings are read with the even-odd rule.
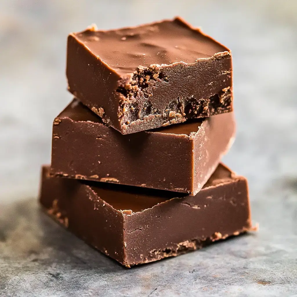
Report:
[[[121,135],[74,99],[53,122],[51,175],[196,195],[234,134],[223,113]]]

